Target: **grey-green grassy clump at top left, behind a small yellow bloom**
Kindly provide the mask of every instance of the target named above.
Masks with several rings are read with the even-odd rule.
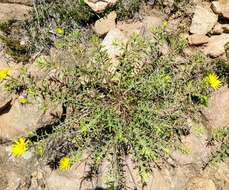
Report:
[[[82,0],[52,2],[39,1],[34,5],[32,17],[22,23],[32,42],[33,50],[42,50],[54,45],[68,33],[96,20],[96,15]],[[64,31],[62,35],[58,31]]]

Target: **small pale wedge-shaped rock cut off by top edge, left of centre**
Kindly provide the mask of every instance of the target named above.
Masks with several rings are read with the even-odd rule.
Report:
[[[101,13],[106,8],[114,6],[118,0],[85,0],[84,2],[96,13]]]

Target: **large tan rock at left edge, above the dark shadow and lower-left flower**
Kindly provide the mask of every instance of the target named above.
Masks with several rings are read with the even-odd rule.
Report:
[[[22,105],[14,100],[8,112],[0,115],[0,138],[15,139],[30,131],[53,124],[62,114],[62,107],[49,105],[48,111],[42,110],[43,101],[28,98],[29,103]]]

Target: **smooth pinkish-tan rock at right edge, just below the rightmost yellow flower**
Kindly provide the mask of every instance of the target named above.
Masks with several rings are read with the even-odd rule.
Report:
[[[223,128],[229,125],[229,88],[224,86],[210,98],[208,107],[203,110],[209,129]]]

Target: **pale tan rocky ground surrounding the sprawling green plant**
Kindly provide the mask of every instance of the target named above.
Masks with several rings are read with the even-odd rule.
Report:
[[[168,1],[168,7],[169,7]],[[32,9],[30,0],[0,0],[0,21],[11,19],[23,20],[28,17]],[[94,1],[86,3],[95,12],[103,12],[107,7],[117,3],[117,0]],[[168,19],[169,30],[176,30],[184,19],[174,15],[166,18],[166,14],[154,7],[154,1],[149,1],[150,6],[141,12],[141,20],[125,20],[117,22],[115,11],[108,16],[97,20],[91,28],[99,35],[108,54],[114,60],[110,70],[115,68],[115,59],[119,50],[113,45],[114,40],[125,43],[133,33],[150,35],[150,29],[163,24]],[[191,56],[197,51],[203,52],[211,58],[229,58],[229,1],[194,1],[188,8],[189,17],[186,38],[189,46],[185,49],[185,56]],[[18,75],[21,64],[5,53],[4,45],[0,44],[0,69],[11,68],[14,75]],[[163,53],[169,51],[163,48]],[[182,57],[181,57],[182,59]],[[31,73],[37,75],[36,67],[29,67]],[[42,75],[42,74],[40,74]],[[44,74],[46,75],[46,74]],[[42,77],[42,76],[37,76]],[[104,187],[103,178],[109,170],[106,163],[101,168],[97,178],[86,178],[89,170],[85,161],[75,165],[69,171],[61,173],[51,170],[37,160],[32,153],[21,159],[11,156],[11,142],[17,137],[29,134],[34,129],[54,124],[63,115],[59,105],[48,105],[48,111],[42,112],[42,99],[26,106],[21,105],[20,99],[7,94],[0,86],[0,190],[76,190],[96,189]],[[190,121],[191,133],[182,137],[181,142],[188,151],[174,151],[168,166],[153,169],[153,174],[146,186],[142,187],[141,181],[134,168],[132,159],[126,158],[128,189],[144,190],[228,190],[229,189],[229,159],[212,166],[212,160],[220,143],[209,145],[211,132],[229,125],[229,88],[224,86],[215,92],[209,100],[209,106],[203,110],[203,122]],[[187,153],[188,152],[188,153]],[[100,188],[97,188],[100,189]],[[102,189],[102,188],[101,188]]]

